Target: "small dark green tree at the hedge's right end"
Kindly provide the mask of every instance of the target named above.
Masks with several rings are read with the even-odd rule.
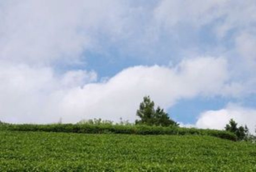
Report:
[[[226,131],[236,134],[238,140],[246,140],[249,136],[249,130],[247,126],[245,125],[245,127],[237,127],[237,123],[233,119],[229,121],[229,124],[226,125],[225,129]]]

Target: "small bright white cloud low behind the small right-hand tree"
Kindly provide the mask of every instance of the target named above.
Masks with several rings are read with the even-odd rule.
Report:
[[[197,122],[198,128],[212,128],[223,130],[229,120],[233,118],[238,126],[247,125],[253,134],[256,127],[256,109],[245,108],[237,104],[228,104],[227,107],[203,112]]]

